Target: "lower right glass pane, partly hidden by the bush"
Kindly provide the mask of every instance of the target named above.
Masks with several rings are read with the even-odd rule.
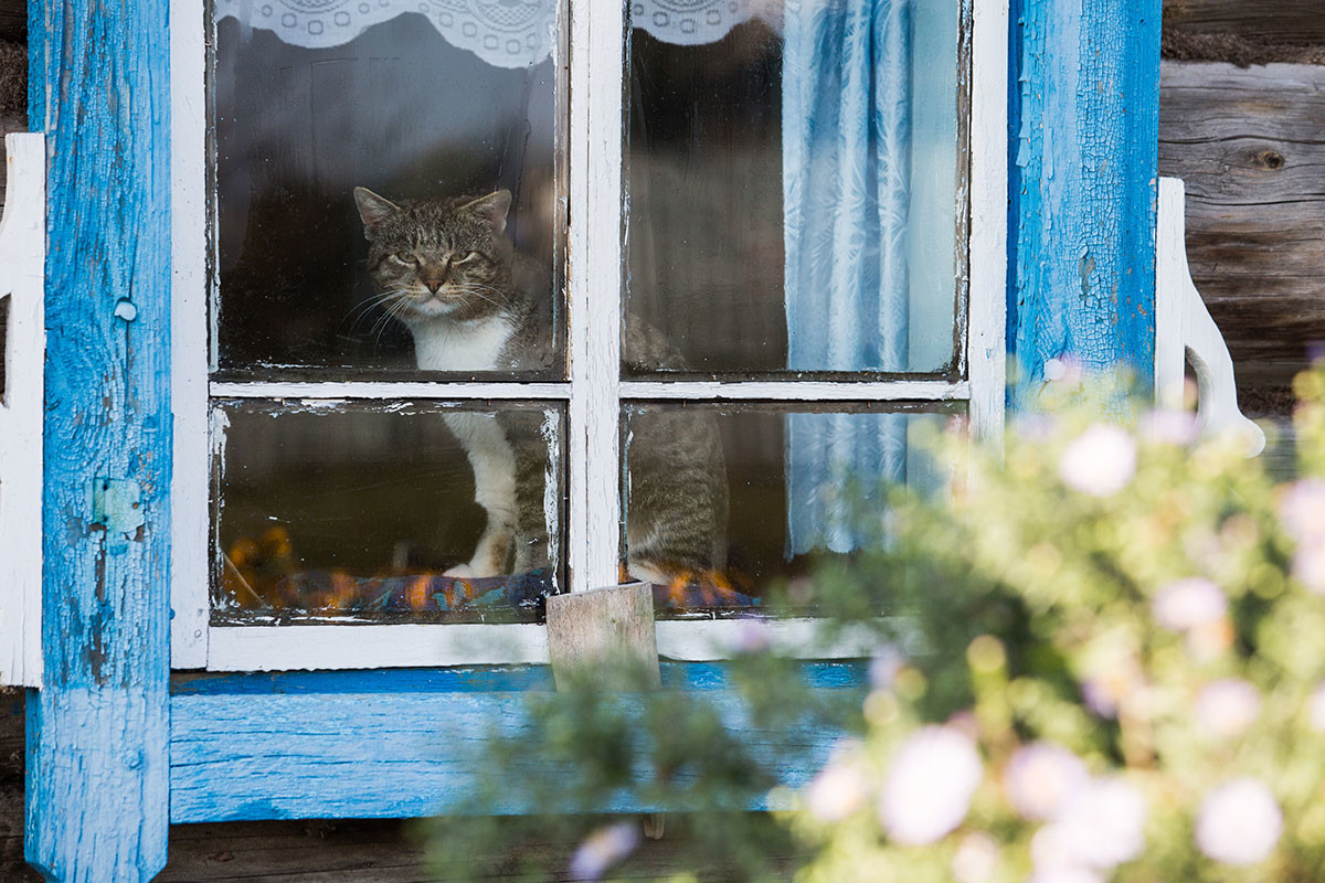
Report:
[[[946,474],[920,443],[953,410],[906,405],[624,408],[625,560],[660,609],[759,604],[812,557],[878,539],[889,486]],[[869,515],[865,515],[869,514]]]

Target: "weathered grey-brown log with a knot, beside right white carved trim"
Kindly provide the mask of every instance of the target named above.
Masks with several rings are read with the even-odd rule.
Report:
[[[1191,275],[1244,409],[1325,340],[1325,68],[1163,64],[1159,169],[1187,185]]]

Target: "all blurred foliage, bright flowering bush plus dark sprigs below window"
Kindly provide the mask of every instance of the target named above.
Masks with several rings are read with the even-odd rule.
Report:
[[[531,695],[533,729],[477,761],[486,815],[436,822],[435,860],[477,879],[472,857],[533,837],[579,846],[529,879],[647,879],[639,822],[590,814],[645,806],[685,813],[670,880],[1320,879],[1325,365],[1296,391],[1277,486],[1190,413],[1101,420],[1118,388],[1072,371],[998,451],[935,438],[943,498],[894,490],[861,512],[872,548],[767,610],[865,630],[867,688],[812,686],[751,622],[726,690]],[[816,778],[776,784],[827,728]],[[521,808],[541,814],[492,817]]]

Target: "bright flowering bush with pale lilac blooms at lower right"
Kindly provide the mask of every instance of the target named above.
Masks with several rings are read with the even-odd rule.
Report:
[[[947,445],[963,478],[900,503],[905,551],[816,584],[905,598],[920,650],[783,815],[798,880],[1325,872],[1325,371],[1283,486],[1190,414],[1124,428],[1072,392],[1002,459]]]

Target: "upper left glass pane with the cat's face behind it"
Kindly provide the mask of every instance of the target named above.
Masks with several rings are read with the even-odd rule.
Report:
[[[563,373],[558,4],[498,5],[216,0],[221,372]]]

